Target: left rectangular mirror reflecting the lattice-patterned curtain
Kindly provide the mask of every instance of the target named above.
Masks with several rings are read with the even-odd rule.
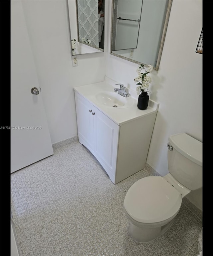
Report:
[[[105,0],[67,0],[72,55],[104,52]]]

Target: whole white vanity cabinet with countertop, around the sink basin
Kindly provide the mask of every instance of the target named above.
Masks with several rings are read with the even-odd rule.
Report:
[[[149,100],[141,111],[132,98],[131,106],[115,109],[97,101],[102,91],[114,90],[105,82],[74,88],[78,138],[116,184],[145,167],[159,104]]]

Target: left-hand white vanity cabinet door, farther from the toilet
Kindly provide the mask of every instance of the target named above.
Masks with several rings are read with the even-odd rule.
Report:
[[[75,92],[79,142],[94,151],[93,105]]]

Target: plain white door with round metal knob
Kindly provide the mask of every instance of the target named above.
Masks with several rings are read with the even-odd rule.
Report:
[[[11,173],[53,154],[41,94],[22,1],[12,0]]]

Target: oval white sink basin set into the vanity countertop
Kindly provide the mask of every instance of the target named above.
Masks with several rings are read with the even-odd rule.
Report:
[[[123,97],[115,92],[100,92],[96,94],[96,100],[111,108],[127,108],[133,103],[131,96]]]

